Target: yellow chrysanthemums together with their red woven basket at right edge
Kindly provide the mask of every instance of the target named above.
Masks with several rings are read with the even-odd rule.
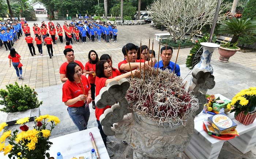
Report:
[[[253,123],[256,118],[256,87],[240,91],[227,105],[231,112],[235,112],[234,117],[244,125]]]

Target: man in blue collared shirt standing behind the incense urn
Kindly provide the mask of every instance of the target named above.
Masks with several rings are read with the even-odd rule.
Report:
[[[174,65],[175,63],[173,63],[172,61],[170,61],[172,59],[172,55],[173,55],[173,48],[170,47],[170,46],[164,46],[161,48],[161,58],[162,60],[159,61],[159,64],[158,62],[154,65],[155,68],[157,68],[157,65],[158,65],[158,68],[164,70],[166,68],[170,69],[173,71],[174,69]],[[165,68],[163,68],[165,66]],[[180,76],[180,66],[178,64],[176,64],[175,66],[175,71],[174,73],[177,75],[177,76]]]

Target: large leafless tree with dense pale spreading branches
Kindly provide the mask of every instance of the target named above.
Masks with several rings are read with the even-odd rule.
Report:
[[[173,40],[181,40],[191,32],[189,40],[201,31],[206,24],[212,24],[217,0],[155,0],[147,11],[158,24],[163,24],[169,29]],[[219,13],[231,7],[231,3],[223,3]],[[218,23],[221,23],[227,14],[218,16]],[[192,32],[193,30],[193,32]]]

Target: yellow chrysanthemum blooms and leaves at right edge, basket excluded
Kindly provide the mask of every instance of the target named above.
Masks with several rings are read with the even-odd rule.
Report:
[[[233,109],[231,109],[231,107],[233,107]],[[256,87],[251,87],[247,90],[240,91],[227,105],[227,108],[229,108],[229,110],[231,109],[230,112],[235,112],[235,118],[241,112],[244,115],[247,115],[248,113],[255,111],[255,107]]]

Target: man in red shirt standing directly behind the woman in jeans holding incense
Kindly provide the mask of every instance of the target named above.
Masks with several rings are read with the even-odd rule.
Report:
[[[80,68],[82,69],[82,73],[84,76],[86,76],[86,71],[84,69],[84,66],[83,64],[78,61],[78,60],[75,60],[75,55],[74,55],[74,50],[72,50],[71,48],[67,48],[67,49],[64,49],[63,51],[67,61],[64,62],[61,66],[60,66],[60,80],[61,82],[66,82],[68,80],[67,78],[67,75],[66,75],[66,68],[67,68],[67,65],[71,62],[76,62],[79,64]]]

